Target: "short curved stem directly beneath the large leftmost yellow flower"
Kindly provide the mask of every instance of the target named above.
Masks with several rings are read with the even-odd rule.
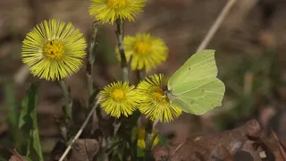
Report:
[[[61,89],[63,90],[63,97],[65,101],[65,106],[63,106],[63,113],[65,119],[72,120],[72,98],[71,92],[67,84],[63,80],[59,80]]]

